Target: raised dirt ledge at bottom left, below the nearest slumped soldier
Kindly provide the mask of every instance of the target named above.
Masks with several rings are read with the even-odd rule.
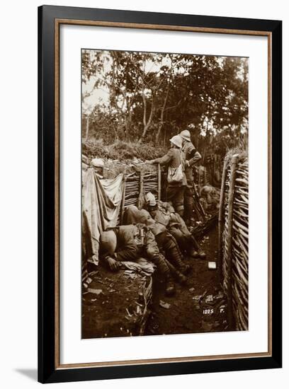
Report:
[[[149,313],[144,294],[152,278],[123,269],[112,273],[101,266],[90,277],[82,294],[82,338],[140,335]]]

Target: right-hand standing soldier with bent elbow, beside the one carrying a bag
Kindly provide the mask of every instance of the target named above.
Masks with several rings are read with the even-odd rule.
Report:
[[[191,224],[191,218],[193,216],[193,165],[198,162],[201,158],[200,153],[196,150],[196,147],[193,146],[191,142],[191,133],[188,129],[184,129],[181,134],[181,139],[183,141],[182,153],[185,163],[185,173],[186,173],[186,190],[184,194],[184,207],[186,213],[186,223]]]

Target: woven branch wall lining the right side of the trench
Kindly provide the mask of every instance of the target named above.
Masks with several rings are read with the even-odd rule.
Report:
[[[232,308],[237,330],[248,330],[248,240],[249,240],[249,195],[248,160],[239,158],[235,169],[234,187],[230,188],[232,160],[227,161],[224,193],[224,225],[222,232],[223,287],[229,290],[232,282]],[[229,234],[229,192],[232,193],[232,236]],[[232,239],[231,252],[228,252]],[[229,260],[232,261],[230,277]]]

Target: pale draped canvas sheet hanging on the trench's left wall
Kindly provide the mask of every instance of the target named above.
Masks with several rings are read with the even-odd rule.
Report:
[[[101,232],[118,223],[123,198],[123,174],[101,180],[93,168],[82,171],[82,256],[98,265]]]

